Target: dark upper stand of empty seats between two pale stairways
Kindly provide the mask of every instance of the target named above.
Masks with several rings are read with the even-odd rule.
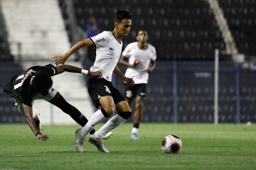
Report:
[[[63,0],[59,2],[64,6],[62,14],[67,19]],[[136,33],[144,29],[161,60],[212,60],[215,48],[225,49],[214,15],[204,0],[74,0],[73,3],[81,28],[89,16],[95,16],[102,31],[113,30],[114,15],[118,10],[131,11],[132,28],[123,39],[123,48],[136,41]],[[69,25],[66,28],[70,31]]]

